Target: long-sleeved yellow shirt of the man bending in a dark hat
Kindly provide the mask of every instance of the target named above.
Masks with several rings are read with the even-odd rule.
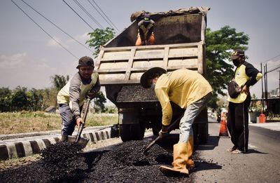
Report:
[[[172,120],[172,106],[169,101],[186,109],[211,92],[209,82],[197,71],[178,69],[162,74],[155,85],[155,95],[162,106],[162,124],[168,126]]]

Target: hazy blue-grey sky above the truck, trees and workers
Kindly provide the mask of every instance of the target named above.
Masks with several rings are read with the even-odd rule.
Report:
[[[50,76],[55,74],[73,76],[77,71],[76,57],[91,56],[93,51],[80,46],[69,36],[60,32],[21,0],[13,1],[75,57],[50,39],[12,1],[0,1],[0,87],[46,88],[51,86]],[[87,33],[91,32],[92,28],[99,28],[72,0],[64,1],[74,8],[92,28],[71,11],[63,1],[25,1],[81,43],[85,43],[88,39]],[[93,4],[92,0],[89,1]],[[109,25],[89,1],[78,0],[102,27],[108,27]],[[267,63],[268,70],[280,65],[280,1],[94,1],[120,31],[130,25],[130,15],[134,11],[159,12],[190,6],[207,6],[211,8],[208,13],[207,27],[217,30],[229,25],[236,28],[237,32],[248,34],[250,37],[246,51],[249,57],[248,62],[257,69],[260,69],[261,62]],[[275,58],[270,60],[272,57]],[[268,80],[269,90],[279,88],[279,69],[270,72]],[[261,95],[260,83],[251,88],[252,94]]]

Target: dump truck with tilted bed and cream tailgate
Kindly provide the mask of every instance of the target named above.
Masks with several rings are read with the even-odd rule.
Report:
[[[207,11],[207,7],[192,7],[151,13],[155,21],[155,43],[149,46],[135,46],[139,17],[134,16],[129,27],[101,46],[95,70],[105,87],[106,97],[118,107],[119,135],[123,142],[143,140],[149,128],[158,135],[162,126],[162,109],[155,91],[140,85],[141,75],[146,70],[162,67],[172,72],[187,68],[205,76]],[[183,109],[173,103],[172,109],[172,121],[175,121]],[[193,129],[196,143],[207,142],[206,108],[196,118]]]

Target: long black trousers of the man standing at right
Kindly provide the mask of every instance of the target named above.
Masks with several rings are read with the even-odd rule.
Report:
[[[251,102],[251,97],[248,95],[242,103],[228,104],[228,121],[227,126],[230,132],[230,137],[235,148],[240,151],[248,151],[248,107]]]

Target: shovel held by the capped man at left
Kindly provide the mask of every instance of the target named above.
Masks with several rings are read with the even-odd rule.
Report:
[[[82,149],[84,149],[87,146],[87,142],[89,139],[80,137],[82,134],[83,128],[85,126],[85,118],[87,118],[87,112],[88,109],[90,109],[90,98],[87,98],[87,104],[85,106],[85,114],[83,114],[83,122],[80,124],[80,127],[78,128],[78,135],[77,136],[68,136],[67,142],[70,143],[78,143]]]

